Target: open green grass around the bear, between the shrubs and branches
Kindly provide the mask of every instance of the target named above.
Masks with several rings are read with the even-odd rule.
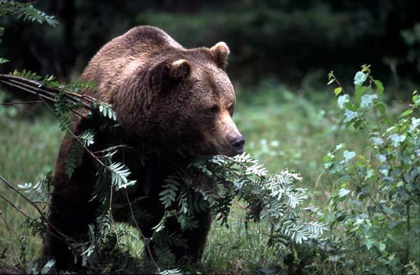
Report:
[[[403,107],[404,102],[391,102],[387,111],[391,116],[396,116]],[[12,107],[0,107],[0,174],[15,185],[35,182],[51,170],[62,138],[59,123],[54,117],[36,107],[22,108],[26,112]],[[325,154],[339,143],[345,143],[356,152],[363,151],[369,145],[369,140],[363,135],[342,125],[340,112],[336,99],[325,91],[297,94],[281,85],[264,82],[253,92],[251,89],[237,87],[234,120],[246,137],[247,152],[260,163],[265,163],[270,172],[279,172],[285,168],[299,171],[303,177],[302,187],[309,189],[313,195],[310,202],[321,210],[327,210],[328,200],[337,194],[337,181],[322,172]],[[367,115],[367,119],[374,118]],[[0,192],[25,213],[35,213],[34,208],[4,185],[0,185]],[[351,208],[351,201],[340,203]],[[206,274],[250,271],[270,274],[284,270],[284,266],[276,262],[273,248],[265,245],[268,229],[258,223],[251,224],[248,230],[241,225],[244,221],[244,210],[241,207],[239,203],[232,206],[228,228],[214,222],[203,262],[197,270]],[[20,227],[23,217],[2,200],[0,210],[7,226],[13,229],[13,234],[27,236],[23,253],[27,257],[25,260],[39,257],[41,239],[20,232],[23,230],[21,228],[25,228]],[[3,220],[0,222],[0,257],[4,258],[3,262],[13,266],[19,263],[16,255],[22,255],[22,251],[10,249],[15,236],[9,235]],[[130,230],[135,231],[134,228]],[[340,233],[336,231],[334,234]],[[141,257],[139,251],[143,244],[127,242],[131,246],[132,256]],[[349,258],[360,260],[363,266],[368,251],[346,253],[349,253]],[[314,270],[325,273],[346,271],[346,266],[335,266],[334,258],[325,262],[325,257],[313,257],[305,270],[309,273]],[[353,266],[349,265],[348,268],[351,270]],[[363,267],[358,270],[363,270]]]

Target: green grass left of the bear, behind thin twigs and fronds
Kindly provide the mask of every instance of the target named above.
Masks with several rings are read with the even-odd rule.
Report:
[[[0,106],[0,175],[15,185],[36,182],[54,168],[59,142],[62,139],[59,123],[48,114],[15,114],[4,108],[10,107]],[[0,183],[0,192],[27,215],[35,214],[35,209],[3,185],[3,182]],[[0,220],[0,250],[8,248],[5,262],[15,264],[21,260],[15,255],[20,251],[13,251],[12,248],[20,248],[17,235],[20,233],[20,224],[24,217],[1,199],[0,211],[7,222],[6,226],[3,220]],[[7,227],[12,231],[8,232]],[[27,242],[26,255],[29,255],[29,258],[38,257],[42,240],[31,237],[29,232],[22,236],[27,236],[22,240]]]

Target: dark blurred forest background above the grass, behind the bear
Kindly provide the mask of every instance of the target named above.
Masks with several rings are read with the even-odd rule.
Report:
[[[418,1],[332,0],[57,0],[36,7],[58,27],[12,17],[0,56],[1,70],[31,69],[61,81],[78,78],[107,41],[137,25],[164,29],[187,48],[225,41],[233,79],[276,79],[289,86],[325,85],[332,69],[344,82],[365,63],[395,89],[407,90],[420,72]]]

